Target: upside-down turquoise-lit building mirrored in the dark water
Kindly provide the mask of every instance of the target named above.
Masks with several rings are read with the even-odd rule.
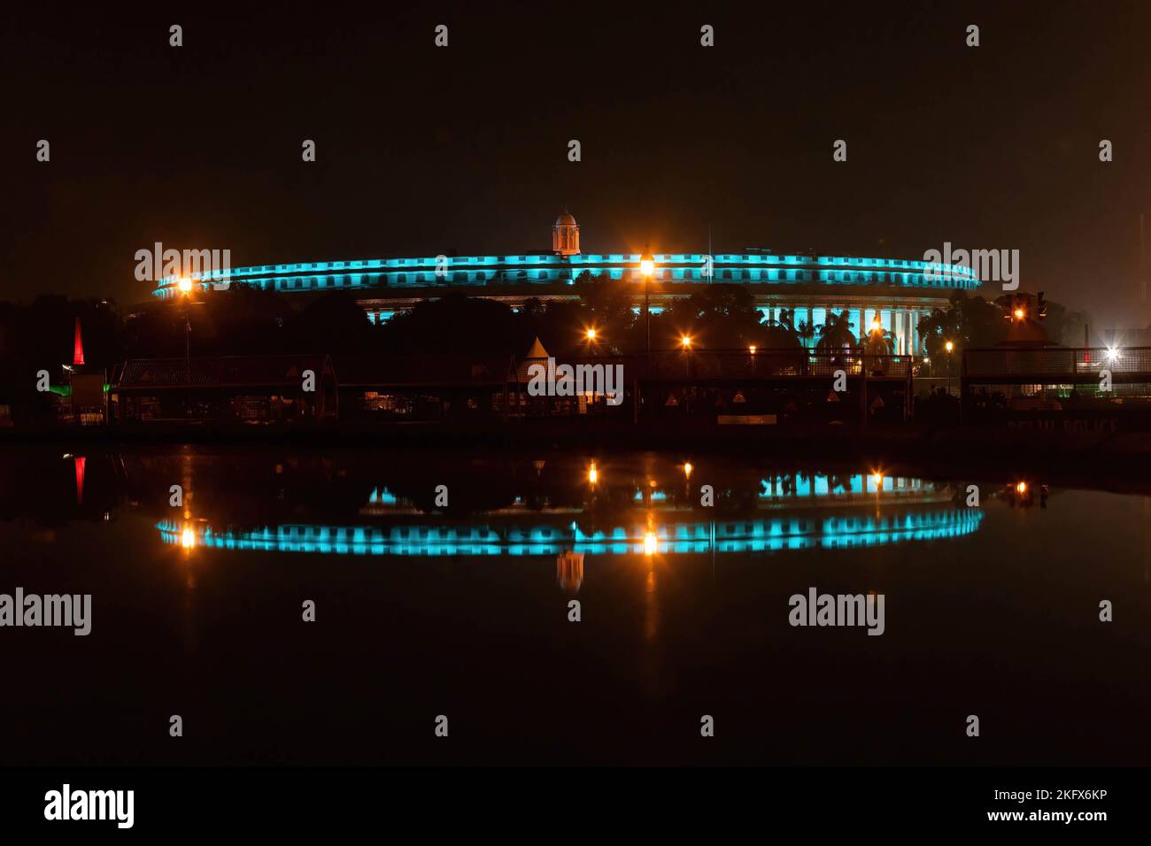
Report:
[[[714,519],[714,509],[673,502],[674,496],[656,487],[654,479],[646,481],[638,481],[631,493],[625,488],[631,508],[594,519],[578,505],[533,509],[518,496],[479,517],[429,515],[379,486],[360,509],[359,517],[366,519],[359,525],[216,528],[207,520],[197,524],[195,542],[218,549],[322,555],[551,556],[561,585],[578,590],[585,555],[849,549],[958,538],[974,532],[983,518],[980,509],[952,505],[947,485],[878,472],[771,475],[760,480],[749,512],[725,519]],[[182,526],[176,521],[163,520],[157,528],[166,542],[181,542]]]

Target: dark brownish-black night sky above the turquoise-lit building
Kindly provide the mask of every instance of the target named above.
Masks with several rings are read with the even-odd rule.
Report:
[[[715,252],[1019,249],[1024,290],[1151,319],[1151,3],[13,6],[0,298],[146,299],[154,241],[234,265],[547,249],[566,205],[585,252],[703,252],[709,223]]]

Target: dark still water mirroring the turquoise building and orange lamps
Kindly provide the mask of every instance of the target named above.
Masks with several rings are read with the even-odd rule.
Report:
[[[0,628],[0,764],[1142,764],[1149,502],[670,454],[8,450],[0,593],[93,619]],[[788,625],[811,587],[883,594],[884,634]]]

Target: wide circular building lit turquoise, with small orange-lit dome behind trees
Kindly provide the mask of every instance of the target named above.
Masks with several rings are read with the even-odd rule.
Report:
[[[655,254],[650,282],[651,311],[691,296],[714,282],[749,288],[765,319],[792,312],[796,326],[820,327],[829,312],[847,311],[860,335],[876,321],[890,334],[897,355],[922,351],[917,323],[933,308],[946,307],[956,290],[975,290],[980,280],[959,265],[929,266],[922,260],[844,256],[777,254],[768,250],[707,256]],[[564,212],[551,233],[551,250],[502,256],[432,256],[424,258],[351,259],[231,268],[233,283],[284,294],[353,290],[373,322],[390,319],[425,299],[449,292],[506,303],[512,308],[529,298],[573,299],[576,280],[584,274],[634,281],[637,308],[643,302],[645,279],[638,254],[586,254],[580,228]],[[200,288],[224,279],[204,274]],[[175,277],[161,280],[153,295],[176,298]],[[811,334],[807,342],[814,344]]]

